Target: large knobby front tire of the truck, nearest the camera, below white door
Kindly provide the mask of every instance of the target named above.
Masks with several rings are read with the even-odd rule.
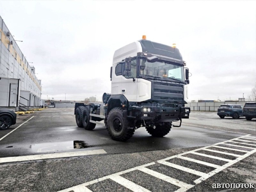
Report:
[[[111,109],[107,118],[108,133],[113,140],[126,141],[134,133],[134,128],[129,127],[128,120],[123,117],[123,109],[116,107]]]

